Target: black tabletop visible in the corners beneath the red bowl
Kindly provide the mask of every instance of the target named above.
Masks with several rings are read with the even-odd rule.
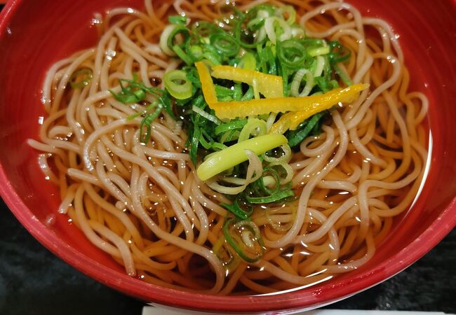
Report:
[[[400,274],[328,308],[456,313],[455,268],[453,230]],[[144,305],[55,257],[29,235],[0,200],[0,314],[140,315]]]

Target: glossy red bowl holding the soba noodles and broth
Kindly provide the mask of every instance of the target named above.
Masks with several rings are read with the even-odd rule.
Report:
[[[141,1],[128,6],[142,8]],[[363,15],[387,20],[400,34],[412,87],[427,94],[433,145],[427,181],[363,267],[318,286],[279,296],[222,297],[185,293],[130,278],[107,254],[56,216],[58,192],[26,144],[36,137],[43,106],[40,87],[53,62],[93,45],[93,13],[126,1],[10,1],[0,15],[0,193],[41,244],[85,274],[147,302],[185,309],[248,313],[309,309],[374,286],[427,253],[456,224],[456,1],[351,0]],[[51,224],[50,224],[51,223]],[[19,244],[18,244],[19,246]],[[202,302],[203,301],[203,302]]]

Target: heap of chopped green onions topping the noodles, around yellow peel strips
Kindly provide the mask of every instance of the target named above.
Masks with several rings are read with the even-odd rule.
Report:
[[[124,103],[139,103],[144,109],[145,99],[153,94],[156,101],[145,111],[131,115],[132,118],[145,116],[140,125],[141,140],[149,141],[152,121],[161,110],[166,109],[170,115],[177,112],[189,134],[186,146],[192,162],[196,165],[201,163],[199,160],[203,161],[196,167],[197,176],[209,185],[226,188],[221,193],[229,190],[234,195],[233,189],[241,185],[242,190],[236,193],[238,197],[233,204],[224,205],[231,212],[229,216],[236,216],[227,226],[231,229],[228,230],[231,239],[220,237],[214,246],[225,267],[232,261],[239,262],[238,255],[246,255],[248,248],[255,247],[255,227],[246,225],[237,229],[234,225],[240,220],[249,221],[255,204],[288,202],[295,197],[291,187],[293,169],[288,165],[290,146],[299,145],[309,134],[321,132],[328,111],[305,120],[297,130],[289,130],[286,138],[276,134],[272,136],[282,138],[269,138],[271,135],[266,134],[277,119],[276,113],[248,120],[220,121],[203,99],[194,62],[203,61],[209,66],[227,64],[281,76],[285,96],[322,93],[337,87],[337,80],[345,84],[350,82],[340,64],[348,59],[350,51],[338,41],[326,43],[318,38],[305,38],[304,28],[295,22],[297,13],[293,6],[260,4],[246,13],[233,7],[229,7],[229,12],[226,16],[229,22],[225,20],[227,28],[212,22],[196,22],[186,27],[188,20],[185,16],[170,16],[168,20],[172,25],[163,30],[160,44],[166,55],[177,56],[185,63],[177,70],[180,72],[166,73],[163,91],[146,87],[134,78],[133,81],[121,80],[121,92],[114,95]],[[261,97],[255,80],[250,86],[222,79],[215,79],[213,84],[220,102]],[[173,104],[177,106],[173,108]],[[254,177],[246,176],[246,172],[252,172],[250,158],[257,160]],[[214,177],[216,175],[219,176]],[[222,186],[222,182],[227,186]],[[243,204],[239,204],[241,197]],[[259,259],[255,253],[246,256],[250,260]]]

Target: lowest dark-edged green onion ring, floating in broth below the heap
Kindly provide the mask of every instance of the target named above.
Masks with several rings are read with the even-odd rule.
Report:
[[[257,262],[264,253],[264,243],[260,229],[252,221],[227,220],[223,234],[228,244],[246,262]]]

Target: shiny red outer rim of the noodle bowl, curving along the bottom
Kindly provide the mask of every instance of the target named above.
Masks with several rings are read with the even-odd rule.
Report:
[[[8,22],[13,18],[22,0],[10,0],[0,13],[0,34],[4,34]],[[456,3],[456,0],[455,0]],[[258,312],[280,309],[309,309],[342,300],[389,279],[431,250],[456,225],[456,197],[443,209],[436,220],[408,246],[372,269],[358,274],[352,279],[333,281],[316,287],[311,294],[301,290],[277,295],[220,296],[189,293],[163,288],[139,279],[132,278],[114,269],[109,269],[92,258],[68,246],[39,221],[27,205],[22,202],[6,176],[0,163],[0,196],[18,221],[49,251],[72,267],[111,288],[147,302],[166,304],[171,307],[195,309],[199,311]],[[204,301],[202,304],[201,301]]]

